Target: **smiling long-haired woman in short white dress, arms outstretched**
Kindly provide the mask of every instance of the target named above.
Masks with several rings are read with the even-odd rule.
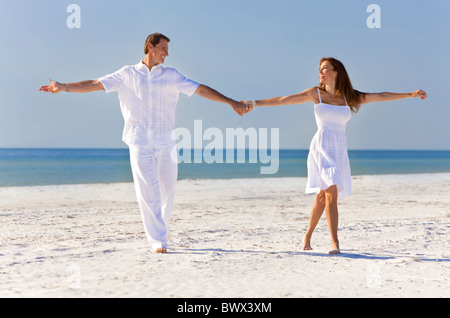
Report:
[[[318,131],[311,141],[308,154],[308,181],[306,193],[316,193],[303,249],[311,250],[311,236],[325,211],[331,234],[330,254],[339,254],[338,195],[351,195],[350,164],[347,154],[345,127],[352,112],[361,104],[384,102],[408,97],[425,99],[422,90],[413,93],[362,93],[354,90],[344,65],[330,57],[320,60],[318,87],[300,94],[247,101],[247,111],[262,106],[281,106],[313,102]]]

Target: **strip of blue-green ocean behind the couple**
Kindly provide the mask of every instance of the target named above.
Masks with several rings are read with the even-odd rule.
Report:
[[[128,149],[0,149],[0,187],[132,182],[128,156]],[[307,176],[308,150],[280,150],[273,174],[261,174],[269,163],[258,156],[250,162],[248,150],[243,163],[238,156],[235,151],[234,163],[194,163],[192,151],[192,163],[179,164],[178,179]],[[352,175],[450,172],[450,151],[349,150],[349,158]]]

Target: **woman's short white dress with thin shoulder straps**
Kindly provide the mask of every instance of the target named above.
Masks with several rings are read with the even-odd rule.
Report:
[[[306,193],[319,193],[336,185],[339,197],[352,195],[350,162],[345,127],[352,117],[350,107],[322,103],[314,106],[317,132],[308,154]]]

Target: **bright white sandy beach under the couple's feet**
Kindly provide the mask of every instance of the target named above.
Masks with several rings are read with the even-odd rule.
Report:
[[[450,297],[450,174],[354,177],[338,256],[305,184],[179,181],[165,255],[132,184],[0,188],[0,296]]]

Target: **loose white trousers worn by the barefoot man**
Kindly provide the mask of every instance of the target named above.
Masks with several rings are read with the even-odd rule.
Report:
[[[129,148],[145,234],[153,249],[166,248],[178,175],[177,158],[171,156],[173,146]]]

